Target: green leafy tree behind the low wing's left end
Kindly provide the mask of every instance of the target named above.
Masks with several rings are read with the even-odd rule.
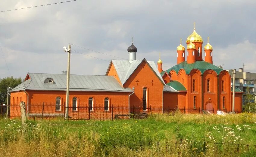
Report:
[[[0,79],[0,103],[7,103],[7,88],[11,87],[14,88],[22,83],[21,77],[20,78],[13,78],[13,77],[6,77]],[[9,97],[10,102],[10,97]]]

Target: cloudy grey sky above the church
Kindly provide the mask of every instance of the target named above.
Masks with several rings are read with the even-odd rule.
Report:
[[[1,0],[0,11],[63,1]],[[255,8],[255,0],[79,0],[0,12],[0,78],[61,74],[68,43],[89,55],[72,52],[71,74],[104,75],[111,59],[128,59],[132,36],[137,59],[157,62],[161,53],[166,70],[176,64],[176,47],[180,38],[186,45],[194,22],[203,45],[210,37],[214,65],[238,69],[244,62],[245,71],[256,72]]]

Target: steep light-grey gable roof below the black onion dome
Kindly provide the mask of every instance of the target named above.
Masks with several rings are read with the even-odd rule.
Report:
[[[149,67],[152,69],[152,71],[157,75],[157,77],[161,80],[161,82],[165,85],[163,78],[161,77],[161,74],[159,73],[155,63],[153,61],[147,61],[144,59],[136,59],[136,60],[111,60],[110,65],[108,67],[108,70],[106,72],[106,75],[108,71],[110,70],[111,63],[114,64],[114,67],[117,71],[118,77],[124,85],[124,83],[129,79],[129,77],[133,74],[133,72],[138,68],[138,66],[145,61]]]

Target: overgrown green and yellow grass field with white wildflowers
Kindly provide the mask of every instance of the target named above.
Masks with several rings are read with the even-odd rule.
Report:
[[[238,145],[239,144],[239,145]],[[247,144],[247,146],[246,146]],[[114,121],[0,119],[0,156],[256,156],[256,115]]]

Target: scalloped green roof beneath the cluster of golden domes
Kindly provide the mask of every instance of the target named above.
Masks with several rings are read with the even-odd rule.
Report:
[[[217,75],[219,75],[220,72],[223,71],[223,69],[205,61],[196,61],[192,64],[188,64],[187,61],[185,61],[173,66],[166,72],[169,74],[171,70],[175,70],[176,73],[178,74],[180,69],[184,69],[186,71],[186,74],[189,74],[192,69],[198,69],[201,71],[202,74],[204,73],[204,71],[211,69],[214,70],[217,73]]]

